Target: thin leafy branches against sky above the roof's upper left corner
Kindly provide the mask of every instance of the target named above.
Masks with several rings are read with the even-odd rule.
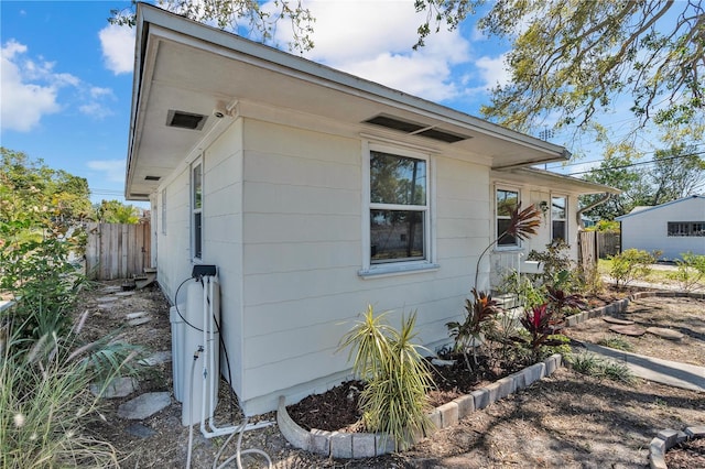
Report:
[[[274,0],[264,3],[257,0],[156,0],[154,3],[192,20],[216,24],[221,30],[246,32],[263,43],[272,41],[276,23],[284,19],[291,23],[293,32],[289,48],[301,52],[313,48],[311,33],[315,20],[308,9],[302,7],[301,1]],[[131,0],[131,7],[111,10],[108,21],[133,26],[135,4],[137,0]]]

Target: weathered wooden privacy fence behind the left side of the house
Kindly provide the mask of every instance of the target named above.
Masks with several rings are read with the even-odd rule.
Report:
[[[150,266],[150,223],[88,223],[86,275],[91,280],[129,279]]]

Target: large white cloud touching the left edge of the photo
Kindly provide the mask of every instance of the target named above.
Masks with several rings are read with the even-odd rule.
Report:
[[[56,96],[67,77],[52,76],[52,65],[48,63],[22,62],[26,50],[25,45],[14,40],[8,41],[2,46],[0,78],[2,130],[28,132],[40,123],[43,116],[61,109]],[[28,83],[25,75],[48,78],[50,83],[43,85]]]

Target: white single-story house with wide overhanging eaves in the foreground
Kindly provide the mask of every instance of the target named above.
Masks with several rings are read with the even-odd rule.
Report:
[[[501,240],[480,287],[552,238],[575,244],[579,194],[617,193],[527,168],[562,146],[154,7],[137,18],[126,195],[151,200],[172,301],[194,264],[218,266],[247,415],[348,377],[336,348],[368,304],[447,343],[519,201],[542,207],[541,232]]]

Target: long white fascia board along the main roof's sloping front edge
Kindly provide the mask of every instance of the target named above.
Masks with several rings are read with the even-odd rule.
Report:
[[[171,30],[175,33],[171,39],[195,47],[204,48],[204,42],[209,43],[219,53],[237,56],[242,62],[541,151],[546,153],[549,157],[555,159],[555,161],[570,159],[570,152],[561,145],[516,132],[445,106],[246,40],[229,32],[196,23],[156,7],[138,3],[138,28],[142,23],[150,23],[162,26],[164,30]],[[194,42],[191,37],[195,37],[197,41]],[[549,157],[546,157],[546,161]],[[527,164],[531,164],[531,162],[527,162]]]

